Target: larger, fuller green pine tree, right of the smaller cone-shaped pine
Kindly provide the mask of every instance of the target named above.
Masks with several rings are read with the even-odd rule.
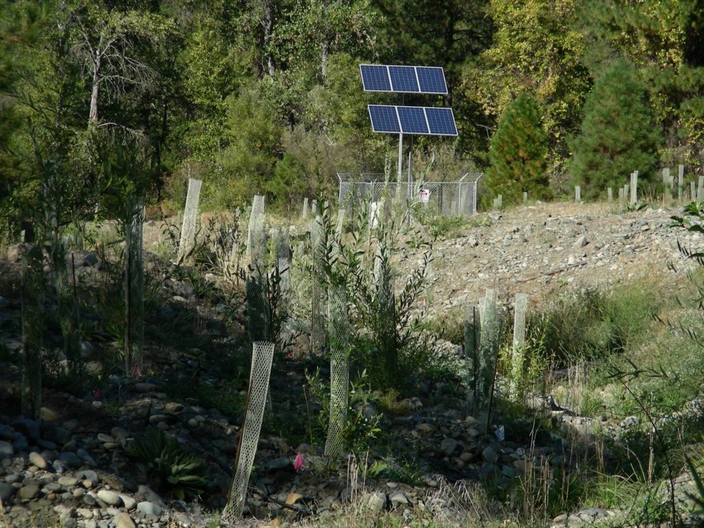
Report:
[[[653,175],[659,140],[636,70],[626,61],[614,63],[587,97],[582,132],[573,144],[570,168],[582,196],[621,187],[634,170]]]

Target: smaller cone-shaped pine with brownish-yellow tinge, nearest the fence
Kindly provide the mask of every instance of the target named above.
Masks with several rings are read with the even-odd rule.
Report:
[[[486,186],[490,196],[501,194],[504,201],[516,202],[523,191],[536,198],[551,194],[546,175],[547,136],[537,103],[520,94],[509,103],[491,138]]]

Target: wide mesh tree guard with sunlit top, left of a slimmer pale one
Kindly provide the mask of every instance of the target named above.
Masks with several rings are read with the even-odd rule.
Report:
[[[480,314],[482,331],[475,360],[477,377],[474,381],[476,384],[474,389],[476,398],[473,403],[474,413],[477,417],[482,416],[488,419],[491,412],[498,344],[501,336],[501,325],[499,324],[498,310],[496,308],[496,295],[493,290],[486,290]]]

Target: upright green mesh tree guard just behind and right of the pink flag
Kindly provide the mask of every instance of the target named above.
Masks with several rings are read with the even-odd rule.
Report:
[[[344,453],[344,428],[347,421],[349,385],[349,324],[347,291],[343,285],[328,289],[327,318],[330,344],[330,423],[325,456],[338,458]]]

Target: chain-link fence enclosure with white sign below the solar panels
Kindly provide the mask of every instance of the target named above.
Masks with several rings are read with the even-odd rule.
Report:
[[[383,175],[337,175],[339,206],[354,215],[363,201],[391,202],[387,210],[408,206],[428,216],[472,216],[477,213],[477,180],[481,174],[465,175],[458,182],[386,182]],[[465,180],[467,178],[467,180]]]

